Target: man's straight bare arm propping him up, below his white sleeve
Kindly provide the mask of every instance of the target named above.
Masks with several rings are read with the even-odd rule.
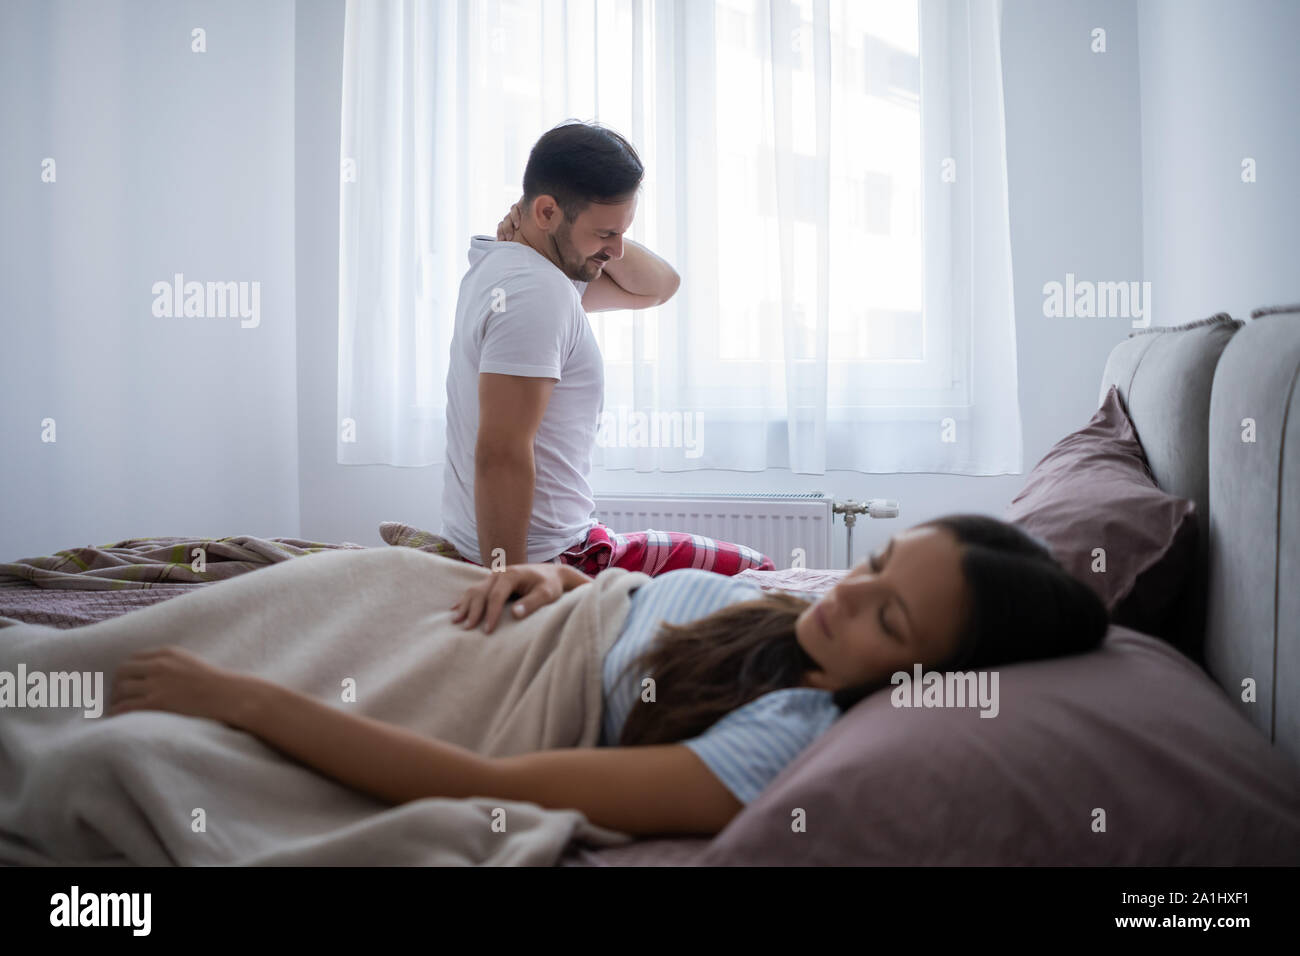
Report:
[[[474,444],[474,516],[478,553],[491,567],[495,548],[507,564],[528,563],[533,516],[533,438],[542,424],[555,378],[478,375],[478,440]]]

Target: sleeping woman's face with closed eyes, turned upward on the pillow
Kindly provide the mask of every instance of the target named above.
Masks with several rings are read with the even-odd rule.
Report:
[[[794,636],[819,670],[805,687],[837,691],[939,667],[966,615],[961,545],[946,528],[910,528],[800,614]]]

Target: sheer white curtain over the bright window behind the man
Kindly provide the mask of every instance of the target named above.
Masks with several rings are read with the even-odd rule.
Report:
[[[590,315],[597,467],[1020,472],[1000,26],[1000,0],[348,0],[338,460],[442,460],[469,237],[580,118],[637,147],[629,235],[682,277]]]

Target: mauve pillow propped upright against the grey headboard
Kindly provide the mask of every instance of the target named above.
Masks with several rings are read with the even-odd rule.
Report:
[[[1002,518],[1039,537],[1114,623],[1179,641],[1175,611],[1195,580],[1196,502],[1156,484],[1114,385],[1092,420],[1034,466]],[[1105,570],[1093,570],[1097,548]]]

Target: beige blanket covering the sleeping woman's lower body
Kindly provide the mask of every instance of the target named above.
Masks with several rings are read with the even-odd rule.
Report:
[[[604,652],[649,578],[607,570],[491,635],[452,624],[489,574],[407,548],[311,554],[88,627],[5,628],[0,672],[101,672],[107,711],[114,667],[174,644],[484,754],[594,745]],[[0,709],[5,864],[551,865],[571,840],[630,838],[490,795],[389,806],[214,721]]]

